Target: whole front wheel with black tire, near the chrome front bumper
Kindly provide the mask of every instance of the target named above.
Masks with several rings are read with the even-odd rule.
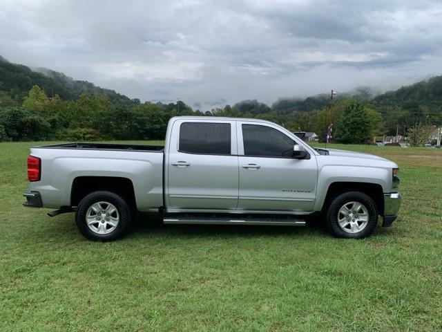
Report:
[[[358,205],[353,203],[360,203],[363,205],[358,209]],[[343,210],[345,208],[349,210],[349,214],[345,214]],[[352,210],[351,208],[354,207]],[[341,210],[341,208],[343,210]],[[350,208],[350,209],[348,209]],[[354,214],[354,210],[356,214]],[[367,212],[367,220],[365,219],[365,213]],[[354,216],[356,216],[355,219]],[[341,226],[338,222],[338,218],[341,219]],[[361,220],[360,220],[361,219]],[[343,237],[347,239],[361,239],[363,237],[369,237],[372,234],[376,224],[378,223],[378,209],[374,201],[364,194],[363,192],[343,192],[337,194],[334,199],[328,205],[325,214],[325,226],[327,231],[334,237]],[[361,230],[359,230],[361,228]]]

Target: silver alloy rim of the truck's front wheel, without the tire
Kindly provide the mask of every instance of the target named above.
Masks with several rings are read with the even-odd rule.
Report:
[[[361,232],[368,224],[368,210],[362,203],[345,203],[338,211],[339,227],[347,233]]]

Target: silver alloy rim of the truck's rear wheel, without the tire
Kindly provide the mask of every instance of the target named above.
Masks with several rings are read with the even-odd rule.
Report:
[[[88,228],[97,234],[113,232],[119,223],[119,213],[115,205],[109,202],[97,202],[90,205],[86,212]]]

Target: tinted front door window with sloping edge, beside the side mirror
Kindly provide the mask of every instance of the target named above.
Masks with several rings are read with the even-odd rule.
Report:
[[[244,156],[290,156],[295,144],[284,133],[258,124],[242,124],[242,140]]]

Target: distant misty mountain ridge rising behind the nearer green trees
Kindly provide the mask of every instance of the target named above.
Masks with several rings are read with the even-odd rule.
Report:
[[[0,91],[8,93],[12,100],[21,104],[24,96],[33,85],[40,86],[46,95],[57,94],[64,100],[75,100],[81,93],[86,93],[86,95],[106,95],[111,102],[119,107],[131,106],[140,102],[140,100],[128,98],[112,89],[104,89],[84,80],[74,80],[64,73],[48,68],[32,70],[23,64],[14,64],[0,55]],[[384,93],[378,93],[368,86],[358,87],[353,91],[338,94],[336,100],[339,98],[357,98],[373,104],[381,112],[383,109],[391,107],[404,107],[404,105],[407,107],[407,104],[410,104],[410,100],[412,100],[429,108],[432,113],[439,112],[442,111],[442,75]],[[307,98],[279,98],[271,104],[270,109],[280,114],[302,113],[318,110],[327,104],[329,104],[329,95],[318,94],[307,96]]]

